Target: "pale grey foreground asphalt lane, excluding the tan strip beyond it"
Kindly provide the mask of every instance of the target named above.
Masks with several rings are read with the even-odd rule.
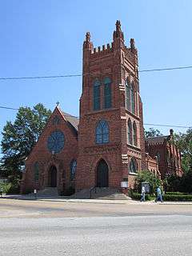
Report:
[[[6,218],[0,255],[191,255],[192,217]]]

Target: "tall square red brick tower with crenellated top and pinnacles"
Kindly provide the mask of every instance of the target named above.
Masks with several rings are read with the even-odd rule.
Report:
[[[145,156],[138,50],[117,21],[112,43],[83,42],[76,189],[133,187]]]

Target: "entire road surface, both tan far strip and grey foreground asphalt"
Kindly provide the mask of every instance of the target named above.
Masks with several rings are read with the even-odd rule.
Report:
[[[5,200],[0,214],[1,256],[192,254],[191,205]]]

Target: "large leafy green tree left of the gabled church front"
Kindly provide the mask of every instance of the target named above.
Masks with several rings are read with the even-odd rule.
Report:
[[[2,174],[17,182],[25,168],[25,160],[38,141],[51,111],[41,103],[30,107],[20,107],[15,121],[6,122],[2,131]]]

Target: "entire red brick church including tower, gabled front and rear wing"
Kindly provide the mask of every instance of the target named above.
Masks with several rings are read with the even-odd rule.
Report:
[[[177,166],[167,169],[169,147],[163,150],[156,138],[145,142],[138,50],[134,39],[125,45],[119,21],[106,46],[94,48],[86,33],[82,74],[79,119],[56,106],[26,160],[22,192],[54,187],[61,194],[70,187],[120,189],[122,184],[133,188],[141,170],[159,178],[181,171],[177,150],[171,148]]]

